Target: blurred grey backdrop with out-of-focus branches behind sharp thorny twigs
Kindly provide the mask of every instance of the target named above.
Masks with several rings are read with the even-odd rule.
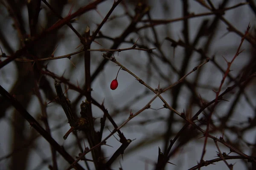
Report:
[[[49,0],[50,6],[63,18],[75,13],[79,8],[96,1],[90,0]],[[215,99],[221,80],[227,70],[227,61],[236,54],[241,38],[250,23],[250,31],[241,45],[244,50],[234,60],[230,73],[224,81],[221,93],[227,87],[237,85],[223,96],[214,108],[211,116],[209,134],[222,137],[242,153],[256,156],[256,91],[255,78],[248,78],[256,72],[255,57],[255,16],[256,1],[253,0],[122,0],[113,10],[107,22],[100,29],[91,49],[129,48],[137,42],[137,48],[156,48],[152,53],[140,50],[115,52],[116,61],[137,75],[153,89],[166,88],[177,82],[193,68],[200,65],[208,57],[210,60],[186,79],[164,92],[161,96],[179,113],[183,112],[191,119],[202,107],[203,102]],[[58,17],[40,0],[1,0],[0,1],[0,60],[10,57],[24,48],[32,37],[58,22]],[[87,26],[90,34],[96,30],[108,11],[113,0],[102,0],[96,9],[89,10],[72,20],[73,27],[84,34]],[[138,5],[139,4],[139,5]],[[209,8],[207,8],[207,6]],[[215,8],[214,10],[212,6]],[[41,8],[38,13],[36,11]],[[150,8],[149,12],[140,15],[134,22],[140,8]],[[232,7],[232,8],[230,8]],[[223,9],[218,10],[218,9]],[[72,10],[72,11],[71,11]],[[31,13],[29,13],[31,12]],[[33,13],[34,12],[34,13]],[[201,14],[201,15],[200,15]],[[31,16],[38,18],[36,24],[31,23]],[[33,20],[35,21],[35,20]],[[131,23],[134,22],[134,27]],[[130,27],[129,27],[130,26]],[[117,41],[119,37],[120,42]],[[74,157],[81,153],[84,144],[89,147],[83,132],[77,136],[70,134],[66,140],[64,134],[70,129],[67,117],[61,105],[56,101],[54,79],[43,74],[35,62],[24,62],[26,59],[43,59],[59,57],[82,49],[76,34],[68,27],[62,26],[37,41],[33,48],[15,61],[0,69],[0,85],[23,105],[24,108],[41,124],[43,109],[47,114],[47,122],[53,139]],[[201,49],[201,50],[199,50]],[[4,54],[6,55],[4,55]],[[155,94],[138,82],[131,74],[120,70],[116,90],[110,89],[110,83],[116,78],[119,66],[106,62],[102,51],[90,51],[91,96],[97,102],[104,103],[105,108],[119,126],[128,119],[130,113],[143,108]],[[112,55],[113,57],[113,55]],[[40,61],[47,70],[63,76],[70,83],[84,88],[84,53],[73,55],[71,59],[61,58]],[[42,66],[41,69],[45,69]],[[246,79],[240,82],[241,79]],[[38,87],[38,88],[36,88]],[[86,99],[79,92],[68,89],[62,83],[65,96],[70,100],[73,113],[79,116],[80,104]],[[38,95],[40,94],[40,95]],[[41,96],[38,97],[38,96]],[[149,109],[131,119],[121,132],[131,144],[124,154],[112,164],[112,169],[122,167],[123,170],[154,169],[158,158],[158,147],[165,153],[179,130],[186,121],[167,108],[156,98]],[[44,106],[44,107],[42,107]],[[207,129],[207,117],[211,114],[211,106],[199,115],[196,125]],[[100,130],[102,110],[92,105],[95,119],[95,130]],[[103,138],[113,130],[113,125],[106,120]],[[201,138],[202,137],[202,138]],[[105,160],[108,161],[120,147],[119,136],[114,134],[102,146]],[[80,146],[80,147],[79,147]],[[218,143],[221,152],[230,153],[230,149]],[[165,169],[184,170],[198,164],[204,147],[203,133],[194,129],[183,131],[170,152]],[[218,149],[212,139],[208,139],[204,160],[216,159]],[[236,156],[236,153],[230,153]],[[89,154],[87,159],[92,159]],[[59,170],[65,170],[69,163],[56,153]],[[234,169],[252,169],[247,160],[227,160],[234,164]],[[79,161],[84,169],[95,169],[93,162]],[[47,170],[52,168],[52,153],[49,143],[19,114],[3,96],[0,96],[0,169],[1,170]],[[215,162],[205,170],[228,169],[224,161]]]

